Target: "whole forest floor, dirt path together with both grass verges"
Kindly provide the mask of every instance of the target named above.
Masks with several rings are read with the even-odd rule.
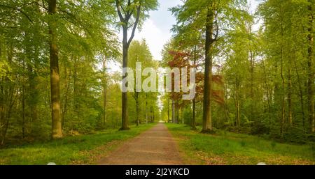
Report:
[[[0,149],[0,164],[315,164],[314,146],[156,123]]]

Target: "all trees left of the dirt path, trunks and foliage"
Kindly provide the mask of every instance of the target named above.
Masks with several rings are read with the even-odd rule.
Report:
[[[132,38],[157,6],[152,0],[1,1],[1,145],[119,127],[127,108],[131,123],[136,116],[139,123],[157,118],[157,94],[137,94],[134,102],[130,95],[122,110],[120,73],[107,72],[109,63],[122,58],[127,65],[120,47],[132,51],[128,63],[153,61],[146,42]],[[123,45],[116,36],[120,29]]]

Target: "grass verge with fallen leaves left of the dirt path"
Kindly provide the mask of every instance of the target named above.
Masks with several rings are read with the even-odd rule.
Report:
[[[152,126],[153,124],[132,126],[127,131],[106,130],[46,143],[3,148],[0,149],[0,164],[96,164],[122,141],[135,137]]]

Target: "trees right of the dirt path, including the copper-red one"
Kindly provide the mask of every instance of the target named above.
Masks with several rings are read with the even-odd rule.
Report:
[[[202,83],[190,102],[165,95],[162,115],[202,132],[314,141],[314,4],[262,1],[253,12],[243,0],[187,0],[172,8],[163,65],[195,65]]]

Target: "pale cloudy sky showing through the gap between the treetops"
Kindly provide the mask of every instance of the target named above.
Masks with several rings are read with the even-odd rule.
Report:
[[[153,59],[162,60],[161,51],[165,43],[172,37],[170,31],[176,19],[169,11],[169,8],[182,4],[181,0],[158,0],[160,6],[158,10],[150,12],[150,17],[144,22],[141,31],[137,30],[134,35],[134,40],[146,39],[148,47],[151,50]],[[251,11],[254,12],[258,6],[258,0],[248,0],[248,5]],[[120,40],[123,37],[122,32],[118,35]],[[120,70],[118,65],[110,64],[111,70]]]

